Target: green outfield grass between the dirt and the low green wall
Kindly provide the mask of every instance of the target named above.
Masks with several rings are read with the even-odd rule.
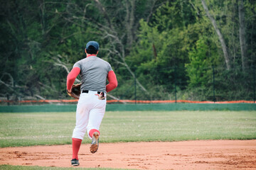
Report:
[[[71,144],[74,127],[74,112],[0,113],[0,147]],[[100,131],[100,142],[251,140],[256,111],[106,112]]]

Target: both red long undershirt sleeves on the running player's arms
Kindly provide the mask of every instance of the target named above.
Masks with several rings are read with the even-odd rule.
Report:
[[[67,77],[67,89],[68,90],[72,89],[72,86],[75,82],[75,78],[78,77],[78,74],[80,74],[79,67],[74,67],[71,70],[71,72],[68,74],[68,77]],[[109,84],[107,84],[107,86],[106,86],[106,91],[108,93],[117,87],[117,77],[114,74],[114,71],[108,72],[107,80],[109,81]]]

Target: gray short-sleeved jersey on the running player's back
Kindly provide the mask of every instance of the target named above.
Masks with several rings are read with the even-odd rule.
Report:
[[[81,90],[104,91],[106,93],[106,79],[112,71],[110,63],[96,56],[86,57],[73,66],[80,68],[82,81]]]

